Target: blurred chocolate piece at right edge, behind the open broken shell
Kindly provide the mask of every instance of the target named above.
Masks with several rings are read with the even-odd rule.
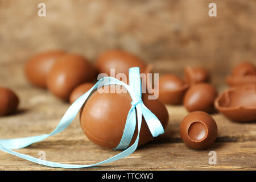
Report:
[[[256,84],[256,67],[250,62],[242,62],[234,67],[232,75],[226,77],[229,86]]]

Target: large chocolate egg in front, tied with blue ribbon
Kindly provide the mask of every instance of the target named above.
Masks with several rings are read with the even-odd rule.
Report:
[[[113,85],[112,85],[113,86]],[[106,86],[107,89],[110,86]],[[148,100],[148,94],[142,94],[144,105],[158,117],[163,127],[168,124],[168,111],[159,100]],[[96,90],[86,101],[80,115],[82,131],[89,140],[102,147],[115,148],[118,146],[126,118],[131,108],[130,94],[127,93],[100,93]],[[136,127],[131,143],[135,142],[138,134]],[[148,130],[144,118],[142,119],[139,146],[150,142],[152,135]]]

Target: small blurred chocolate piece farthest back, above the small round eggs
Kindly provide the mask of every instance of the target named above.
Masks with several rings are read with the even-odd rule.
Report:
[[[187,82],[189,85],[210,81],[210,75],[208,71],[201,67],[186,67],[184,69],[184,77],[185,82]]]

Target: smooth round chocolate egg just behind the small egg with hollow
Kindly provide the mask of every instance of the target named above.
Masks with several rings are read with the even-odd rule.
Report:
[[[199,83],[192,85],[185,93],[183,104],[189,111],[205,111],[212,113],[214,100],[218,96],[218,91],[213,85],[208,83]]]

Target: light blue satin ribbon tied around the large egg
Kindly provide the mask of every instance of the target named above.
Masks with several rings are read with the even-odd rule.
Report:
[[[141,78],[139,73],[139,68],[134,67],[129,69],[129,82],[130,84],[127,85],[122,81],[119,81],[113,77],[104,77],[101,78],[88,92],[83,94],[80,98],[78,98],[66,111],[61,118],[59,124],[52,131],[50,134],[38,135],[34,137],[26,137],[26,138],[15,138],[15,139],[1,139],[0,140],[0,150],[7,152],[9,154],[13,154],[18,156],[19,158],[30,160],[31,162],[43,164],[49,167],[60,167],[60,168],[86,168],[97,166],[99,164],[104,164],[108,162],[113,162],[114,160],[125,158],[126,156],[132,154],[136,148],[138,147],[139,142],[139,132],[141,131],[141,123],[142,123],[142,115],[147,123],[148,129],[150,130],[153,137],[157,137],[160,134],[164,133],[164,129],[162,124],[160,123],[159,119],[153,114],[142,102],[142,89],[141,89]],[[113,156],[112,158],[106,159],[102,162],[90,165],[74,165],[74,164],[62,164],[62,163],[55,163],[49,162],[47,160],[42,160],[38,158],[34,158],[29,155],[20,154],[19,152],[15,152],[11,149],[18,149],[27,147],[32,143],[40,142],[47,137],[52,135],[56,135],[61,131],[65,130],[76,117],[77,113],[81,109],[82,105],[84,105],[85,101],[89,98],[90,93],[94,89],[100,88],[104,85],[122,85],[125,86],[127,91],[130,93],[131,96],[131,109],[127,115],[125,129],[123,130],[123,135],[120,143],[114,150],[123,150],[119,154]],[[137,111],[137,114],[136,114]],[[131,139],[133,138],[135,127],[136,127],[136,117],[138,123],[138,135],[135,142],[129,147]]]

